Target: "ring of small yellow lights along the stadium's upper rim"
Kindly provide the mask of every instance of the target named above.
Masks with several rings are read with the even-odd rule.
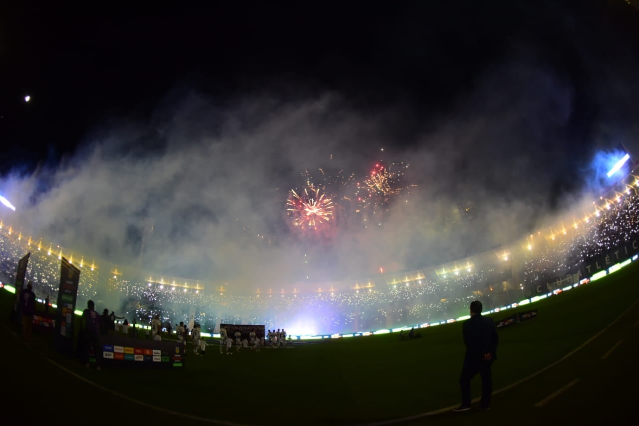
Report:
[[[615,196],[616,196],[615,201],[616,201],[617,203],[621,203],[621,202],[623,201],[623,198],[625,198],[627,195],[629,195],[629,194],[631,193],[631,192],[630,192],[630,190],[631,190],[631,189],[632,189],[633,191],[635,191],[635,193],[636,193],[636,189],[635,189],[635,187],[639,187],[639,177],[636,177],[635,175],[631,175],[631,176],[632,176],[633,178],[635,178],[635,182],[633,182],[633,185],[629,185],[629,184],[626,184],[626,183],[622,182],[622,183],[623,183],[624,185],[626,185],[626,187],[627,187],[627,189],[626,189],[626,194],[625,194],[625,195],[624,195],[624,194],[622,194],[622,193],[619,193],[618,191],[614,191],[614,192],[615,192]],[[600,200],[605,200],[605,201],[606,201],[606,203],[605,203],[604,207],[601,207],[601,206],[597,205],[595,201],[592,201],[592,203],[595,205],[595,212],[594,212],[594,215],[591,215],[591,214],[585,214],[585,217],[584,217],[584,219],[583,219],[583,221],[584,221],[585,223],[589,223],[589,221],[590,221],[590,220],[589,220],[589,216],[590,216],[590,217],[592,217],[592,216],[599,217],[599,216],[600,216],[599,210],[603,211],[603,212],[604,212],[604,214],[605,214],[605,213],[606,213],[606,210],[610,210],[610,206],[611,206],[611,205],[615,205],[615,201],[612,201],[612,200],[610,200],[610,199],[609,199],[609,198],[607,198],[607,197],[601,196],[601,197],[599,197],[599,199],[600,199]],[[578,223],[577,223],[577,222],[578,222],[578,219],[574,219],[574,221],[573,221],[573,227],[574,227],[574,229],[575,229],[575,230],[576,230],[576,229],[578,229]],[[581,221],[579,221],[579,222],[581,222]],[[3,221],[0,221],[0,229],[3,229],[3,225],[4,225],[4,224],[3,224]],[[550,239],[551,239],[551,240],[553,240],[553,241],[555,240],[555,237],[556,237],[557,235],[559,235],[560,233],[562,233],[563,235],[566,235],[566,234],[567,234],[566,227],[565,227],[565,226],[563,226],[563,225],[562,225],[562,230],[561,230],[560,232],[556,232],[556,231],[553,229],[553,227],[550,227],[550,232],[551,232],[551,233],[550,233]],[[539,231],[539,232],[537,232],[537,233],[538,233],[539,235],[541,235],[541,231]],[[12,235],[12,227],[11,227],[11,226],[9,227],[8,235]],[[533,237],[534,237],[534,234],[530,234],[530,238],[532,239]],[[548,237],[546,237],[546,238],[548,238]],[[21,239],[22,239],[22,233],[20,233],[20,234],[19,234],[19,237],[18,237],[18,240],[19,240],[19,241],[20,241]],[[29,237],[29,242],[28,242],[28,244],[29,244],[29,246],[31,246],[31,237]],[[42,246],[42,241],[38,244],[38,251],[40,251],[41,246]],[[59,246],[58,246],[58,247],[59,247]],[[51,253],[52,253],[52,252],[51,252],[51,248],[52,248],[52,247],[50,246],[50,247],[49,247],[49,251],[47,252],[47,254],[48,254],[49,256],[50,256],[50,255],[51,255]],[[528,241],[527,248],[528,248],[528,250],[529,250],[529,251],[530,251],[530,250],[532,250],[532,244],[530,243],[530,241]],[[58,255],[58,259],[61,259],[61,258],[62,258],[62,256],[63,256],[63,254],[62,254],[62,249],[60,249],[60,253],[59,253],[59,255]],[[498,257],[499,257],[499,258],[501,258],[502,260],[504,260],[505,262],[507,262],[507,261],[509,260],[509,253],[507,253],[506,251],[504,251],[504,253],[503,253],[502,255],[498,255]],[[69,259],[69,263],[70,263],[70,264],[72,264],[72,263],[73,263],[73,254],[71,255],[71,257],[70,257],[70,259]],[[80,264],[79,264],[79,267],[83,267],[83,265],[84,265],[84,258],[82,258],[82,260],[81,260],[81,262],[80,262]],[[444,267],[444,268],[442,269],[441,276],[442,276],[442,278],[446,278],[447,274],[449,274],[449,273],[451,273],[451,272],[452,272],[453,274],[455,274],[456,276],[459,276],[459,271],[462,271],[463,269],[466,269],[466,271],[467,271],[467,272],[471,272],[471,271],[472,271],[472,265],[467,264],[465,268],[461,268],[461,267],[459,267],[459,268],[454,269],[453,271],[447,270],[447,269]],[[93,264],[91,265],[91,271],[94,271],[94,270],[95,270],[95,261],[94,261],[94,262],[93,262]],[[383,273],[383,270],[382,270],[381,268],[380,268],[380,271]],[[440,275],[440,272],[437,272],[437,271],[435,271],[435,272],[436,272],[438,275]],[[117,278],[117,276],[116,276],[116,275],[114,275],[114,276],[113,276],[113,278]],[[406,287],[410,287],[410,281],[413,281],[413,282],[414,282],[415,280],[410,280],[410,279],[409,279],[409,280],[404,280],[404,283],[405,283]],[[393,286],[393,288],[397,288],[397,284],[396,284],[395,282],[396,282],[396,281],[394,280],[392,283],[390,283],[390,285],[392,285],[392,286]],[[418,283],[419,283],[419,285],[422,285],[422,280],[418,280]],[[151,287],[151,283],[148,283],[148,287]],[[164,288],[164,285],[160,284],[160,286],[159,286],[159,287],[160,287],[160,289],[163,289],[163,288]],[[355,287],[351,287],[351,289],[355,289],[356,293],[359,293],[360,287],[361,287],[362,289],[363,289],[363,288],[368,288],[369,292],[371,292],[371,287],[374,287],[374,285],[373,285],[373,284],[371,284],[370,282],[369,282],[369,285],[368,285],[368,286],[359,286],[358,284],[356,284],[356,285],[355,285]],[[174,290],[175,290],[175,287],[173,287],[173,288],[172,288],[172,291],[174,291]],[[220,296],[223,296],[224,291],[226,291],[223,287],[218,288],[218,290],[220,291]],[[318,290],[316,290],[316,292],[318,292],[318,293],[322,293],[322,292],[325,292],[325,291],[330,291],[330,292],[331,292],[331,296],[334,296],[334,294],[335,294],[335,288],[333,288],[333,287],[331,287],[329,290],[322,290],[322,288],[321,288],[321,287],[319,287],[319,288],[318,288]],[[187,288],[185,288],[185,289],[184,289],[184,292],[187,292]],[[196,289],[196,294],[197,294],[197,293],[199,293],[199,290],[197,290],[197,289]],[[256,293],[258,294],[258,297],[259,297],[259,295],[260,295],[260,290],[259,290],[259,288],[258,288],[258,290],[257,290],[257,292],[256,292]],[[282,288],[282,291],[281,291],[281,295],[282,295],[282,297],[284,297],[284,294],[285,294],[285,293],[286,293],[286,291],[284,291],[284,288]],[[269,294],[269,297],[272,297],[272,290],[271,290],[271,289],[269,289],[269,290],[268,290],[268,294]],[[296,288],[295,288],[295,289],[293,289],[293,295],[294,295],[295,297],[297,297],[297,290],[296,290]]]

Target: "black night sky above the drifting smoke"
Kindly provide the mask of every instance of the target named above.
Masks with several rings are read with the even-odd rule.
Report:
[[[256,91],[295,98],[335,90],[362,108],[397,104],[405,114],[396,141],[410,144],[424,112],[436,116],[464,102],[478,75],[521,54],[573,82],[568,136],[587,135],[601,106],[590,93],[599,70],[585,68],[633,49],[636,58],[639,21],[624,6],[240,2],[100,17],[7,11],[0,45],[3,170],[56,162],[109,120],[147,120],[182,84],[218,102]],[[624,64],[616,62],[611,66]],[[27,93],[33,100],[24,104]]]

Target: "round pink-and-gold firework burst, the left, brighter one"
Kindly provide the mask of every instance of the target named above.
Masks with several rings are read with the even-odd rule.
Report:
[[[333,219],[334,208],[332,198],[309,181],[299,194],[291,189],[286,200],[288,216],[293,219],[293,225],[301,229],[317,230]]]

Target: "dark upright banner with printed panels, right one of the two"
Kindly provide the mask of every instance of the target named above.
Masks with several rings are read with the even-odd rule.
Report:
[[[73,315],[80,282],[80,270],[62,258],[58,310],[56,310],[56,349],[68,356],[73,355]]]

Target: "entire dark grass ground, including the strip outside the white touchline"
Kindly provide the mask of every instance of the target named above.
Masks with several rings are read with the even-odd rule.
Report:
[[[37,338],[29,347],[10,326],[1,292],[4,389],[30,408],[25,420],[169,424],[531,424],[610,422],[631,413],[638,383],[639,262],[543,301],[492,314],[537,310],[498,331],[490,411],[459,404],[461,322],[420,330],[332,339],[286,349],[206,356],[187,349],[183,368],[96,371]],[[235,348],[233,348],[235,352]],[[479,377],[473,397],[479,397]],[[88,417],[85,417],[88,416]]]

